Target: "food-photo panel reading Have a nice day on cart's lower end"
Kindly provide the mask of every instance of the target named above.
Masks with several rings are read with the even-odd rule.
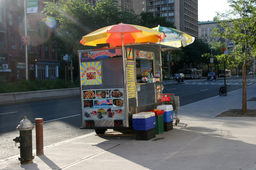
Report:
[[[123,89],[83,90],[83,120],[124,120]]]

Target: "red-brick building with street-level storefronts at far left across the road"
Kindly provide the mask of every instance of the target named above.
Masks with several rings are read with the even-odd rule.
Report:
[[[56,34],[54,23],[44,23],[43,0],[38,10],[26,14],[28,45],[22,45],[25,35],[24,1],[0,1],[0,77],[13,82],[26,77],[25,48],[28,49],[28,79],[56,80],[59,77],[57,53],[48,42]]]

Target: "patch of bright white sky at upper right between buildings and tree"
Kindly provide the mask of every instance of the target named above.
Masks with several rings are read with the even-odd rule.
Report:
[[[227,0],[198,0],[198,21],[213,21],[215,12],[229,10]]]

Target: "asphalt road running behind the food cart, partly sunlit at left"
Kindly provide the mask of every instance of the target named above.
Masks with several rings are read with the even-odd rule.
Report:
[[[242,88],[242,78],[227,79],[231,87],[228,92]],[[180,97],[180,106],[219,95],[224,80],[185,80],[185,84],[164,86],[163,93],[174,93]],[[247,78],[247,85],[256,84],[256,77]],[[223,96],[225,97],[225,96]],[[204,107],[204,106],[202,106]],[[44,146],[85,135],[94,129],[80,129],[80,98],[63,98],[0,106],[0,160],[20,154],[14,139],[19,136],[16,127],[27,116],[34,123],[35,118],[43,118]],[[32,130],[33,149],[36,149],[35,128]]]

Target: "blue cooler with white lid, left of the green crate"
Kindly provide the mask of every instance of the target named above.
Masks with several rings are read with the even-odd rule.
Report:
[[[149,130],[156,127],[154,112],[140,112],[132,115],[133,130]]]

